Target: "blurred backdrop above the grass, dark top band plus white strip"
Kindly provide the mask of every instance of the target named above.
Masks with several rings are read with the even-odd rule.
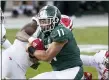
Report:
[[[6,28],[21,28],[45,5],[55,5],[73,19],[75,28],[107,26],[109,1],[0,1]],[[20,21],[19,21],[20,20]],[[24,22],[25,21],[25,22]],[[18,25],[16,25],[19,22]],[[10,26],[11,25],[11,26]]]

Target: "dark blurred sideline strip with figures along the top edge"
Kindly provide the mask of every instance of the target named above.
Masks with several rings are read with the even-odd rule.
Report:
[[[68,16],[109,12],[109,1],[1,1],[1,8],[4,12],[11,11],[13,17],[20,14],[32,16],[47,4],[57,6]]]

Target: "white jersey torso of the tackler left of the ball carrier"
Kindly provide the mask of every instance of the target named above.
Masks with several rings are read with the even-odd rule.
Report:
[[[3,54],[7,54],[12,60],[14,60],[25,73],[27,68],[33,64],[26,52],[26,46],[27,42],[21,42],[16,39],[13,45],[3,52]]]

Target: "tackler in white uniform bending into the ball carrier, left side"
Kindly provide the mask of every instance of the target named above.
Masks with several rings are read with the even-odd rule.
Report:
[[[35,21],[26,24],[17,34],[13,45],[4,50],[2,53],[2,62],[0,68],[2,72],[0,78],[9,79],[26,79],[26,70],[30,66],[37,68],[37,60],[29,57],[26,52],[28,38],[36,31],[37,25]],[[0,59],[1,60],[1,59]]]

